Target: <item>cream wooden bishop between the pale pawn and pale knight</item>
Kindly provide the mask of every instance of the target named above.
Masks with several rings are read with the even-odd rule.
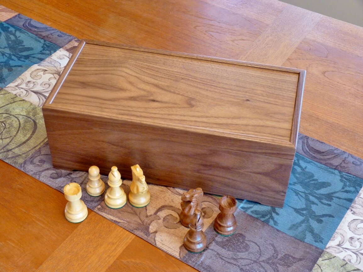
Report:
[[[109,189],[107,189],[105,195],[105,203],[112,209],[119,209],[126,204],[126,194],[120,187],[122,184],[121,174],[118,172],[116,166],[112,166],[111,172],[109,173]]]

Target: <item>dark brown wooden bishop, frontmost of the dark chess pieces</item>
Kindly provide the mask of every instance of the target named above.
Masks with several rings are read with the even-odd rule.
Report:
[[[192,253],[202,252],[207,247],[207,238],[202,230],[203,217],[200,210],[195,210],[189,228],[184,236],[184,247]]]

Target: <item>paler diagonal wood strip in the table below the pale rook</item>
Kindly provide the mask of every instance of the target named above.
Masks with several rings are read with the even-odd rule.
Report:
[[[134,238],[119,228],[111,221],[105,222],[101,215],[91,213],[37,272],[105,271]]]

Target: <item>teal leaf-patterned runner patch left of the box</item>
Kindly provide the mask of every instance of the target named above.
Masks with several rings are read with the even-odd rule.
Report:
[[[0,87],[5,87],[30,66],[41,62],[60,47],[32,33],[0,22]]]

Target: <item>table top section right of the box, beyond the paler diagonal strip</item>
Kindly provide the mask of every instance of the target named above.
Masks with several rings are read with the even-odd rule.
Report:
[[[323,17],[314,30],[284,63],[307,70],[301,132],[363,157],[362,28]]]

